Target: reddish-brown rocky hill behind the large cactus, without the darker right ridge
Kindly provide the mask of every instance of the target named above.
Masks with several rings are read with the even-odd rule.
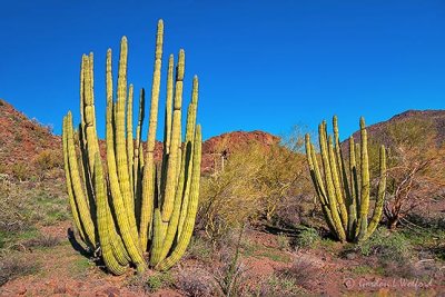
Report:
[[[59,155],[61,152],[60,136],[52,135],[50,128],[41,126],[37,120],[30,120],[1,99],[0,127],[0,174],[10,174],[16,164],[32,165],[43,151],[53,150]],[[235,131],[212,137],[202,145],[202,171],[211,171],[215,158],[219,158],[221,154],[229,155],[251,143],[268,147],[276,141],[278,141],[276,136],[263,131]],[[100,141],[100,150],[105,156],[105,141]],[[161,156],[162,143],[157,141],[155,158],[160,160]]]

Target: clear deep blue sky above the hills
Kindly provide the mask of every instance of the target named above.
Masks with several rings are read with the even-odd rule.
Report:
[[[164,68],[168,53],[186,50],[187,101],[192,75],[200,78],[205,138],[316,130],[334,113],[345,138],[359,116],[374,123],[445,107],[443,0],[2,0],[0,98],[60,133],[69,109],[79,120],[80,57],[93,51],[102,135],[107,48],[117,61],[126,34],[129,80],[149,89],[159,18]]]

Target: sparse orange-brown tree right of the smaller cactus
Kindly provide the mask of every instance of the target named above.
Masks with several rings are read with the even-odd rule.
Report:
[[[388,199],[384,214],[388,227],[425,206],[444,187],[445,147],[431,119],[406,119],[388,127]]]

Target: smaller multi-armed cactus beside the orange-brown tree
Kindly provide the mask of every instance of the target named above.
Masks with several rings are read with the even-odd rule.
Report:
[[[365,119],[360,118],[360,143],[349,138],[349,164],[345,164],[339,142],[337,117],[333,119],[334,138],[327,133],[326,121],[318,126],[323,172],[309,135],[306,135],[306,155],[310,177],[322,204],[322,210],[330,231],[340,240],[366,240],[377,228],[386,188],[385,147],[379,149],[379,182],[370,222],[369,160]]]

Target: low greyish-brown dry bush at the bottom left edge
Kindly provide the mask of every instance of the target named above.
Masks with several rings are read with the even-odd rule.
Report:
[[[36,274],[40,265],[16,255],[16,257],[0,258],[0,287],[20,276]]]

